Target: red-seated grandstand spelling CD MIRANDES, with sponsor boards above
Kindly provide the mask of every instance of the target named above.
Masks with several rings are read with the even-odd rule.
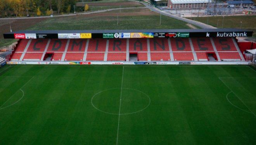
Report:
[[[117,30],[109,30],[107,32],[114,31]],[[129,30],[123,31],[127,33]],[[133,31],[130,30],[129,32]],[[140,31],[142,33],[138,33]],[[145,31],[153,31],[151,33],[152,36],[150,37],[146,35],[148,33],[143,33]],[[163,33],[163,31],[168,33]],[[175,33],[170,33],[173,31]],[[177,31],[182,31],[182,33],[178,33]],[[21,35],[35,33],[33,38],[37,39],[20,39],[10,56],[10,61],[244,62],[245,59],[233,34],[236,36],[241,34],[250,35],[251,33],[240,29],[199,29],[196,31],[137,30],[135,33],[137,35],[136,38],[131,35],[133,33],[129,33],[130,38],[121,38],[122,33],[99,33],[99,31],[97,33],[88,33],[88,31],[86,33],[70,32],[17,32]],[[16,38],[15,35],[17,33],[9,33],[4,36],[5,38]],[[51,33],[48,38],[47,33]],[[232,35],[218,37],[220,35],[219,33],[230,33]],[[68,36],[69,34],[72,35]],[[88,35],[89,37],[81,38],[80,35],[82,36],[82,34]],[[144,37],[144,34],[146,37]],[[41,35],[45,35],[46,37],[42,39],[40,38]],[[63,37],[62,35],[66,36]],[[77,35],[78,37],[73,37],[73,35]],[[105,35],[106,37],[104,38]]]

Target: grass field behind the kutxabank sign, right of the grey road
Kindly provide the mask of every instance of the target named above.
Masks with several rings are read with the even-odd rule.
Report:
[[[223,17],[194,17],[188,18],[195,21],[203,22],[211,26],[222,28]],[[208,21],[208,22],[207,22]],[[251,29],[254,31],[253,36],[256,37],[256,16],[225,16],[223,28],[240,28],[242,22],[242,29]],[[218,24],[218,25],[217,25]]]

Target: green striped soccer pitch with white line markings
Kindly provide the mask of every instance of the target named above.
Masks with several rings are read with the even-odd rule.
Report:
[[[256,144],[253,66],[0,72],[0,144]]]

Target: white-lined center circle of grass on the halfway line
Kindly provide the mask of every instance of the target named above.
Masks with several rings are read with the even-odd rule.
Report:
[[[93,95],[91,104],[95,109],[107,114],[128,115],[149,107],[150,97],[135,89],[112,88]]]

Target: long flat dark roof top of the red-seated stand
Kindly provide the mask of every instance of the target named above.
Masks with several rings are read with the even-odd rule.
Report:
[[[129,30],[24,30],[5,34],[15,33],[36,33],[36,34],[56,34],[56,33],[168,33],[168,32],[244,32],[247,29],[224,28],[224,29],[129,29]]]

